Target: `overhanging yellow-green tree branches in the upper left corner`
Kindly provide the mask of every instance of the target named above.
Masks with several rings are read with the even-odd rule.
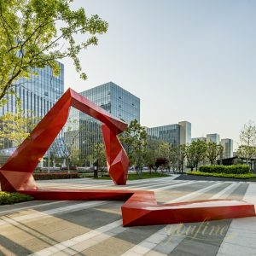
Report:
[[[0,1],[0,101],[22,77],[35,68],[49,66],[58,75],[56,60],[73,60],[81,79],[79,52],[96,45],[96,34],[107,32],[108,23],[98,15],[87,17],[83,8],[72,10],[72,0]],[[75,37],[82,35],[77,43]],[[17,84],[16,84],[17,85]]]

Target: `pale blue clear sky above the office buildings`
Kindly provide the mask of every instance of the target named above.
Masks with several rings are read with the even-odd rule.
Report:
[[[192,137],[218,133],[237,147],[256,120],[256,1],[74,0],[80,7],[109,27],[79,55],[87,80],[62,61],[66,89],[112,81],[141,99],[142,125],[187,120]]]

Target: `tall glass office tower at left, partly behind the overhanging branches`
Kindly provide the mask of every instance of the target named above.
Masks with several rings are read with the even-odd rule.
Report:
[[[31,112],[32,115],[41,119],[64,92],[64,65],[58,62],[60,74],[54,77],[50,67],[35,68],[34,72],[38,75],[32,75],[31,79],[21,78],[15,82],[12,90],[20,98],[21,108],[25,113]],[[0,108],[0,116],[4,113],[16,110],[16,96],[9,95],[8,103]],[[11,141],[5,141],[2,148],[12,148]],[[10,151],[11,152],[11,151]]]

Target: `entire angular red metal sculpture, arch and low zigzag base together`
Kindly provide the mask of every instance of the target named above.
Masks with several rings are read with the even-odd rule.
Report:
[[[199,222],[256,215],[254,206],[245,201],[208,200],[157,205],[154,192],[151,191],[38,189],[32,172],[65,125],[71,106],[102,121],[109,175],[116,184],[126,183],[129,160],[117,135],[127,125],[69,89],[32,131],[31,136],[21,143],[0,168],[2,190],[19,191],[32,195],[36,200],[126,201],[122,206],[125,226]]]

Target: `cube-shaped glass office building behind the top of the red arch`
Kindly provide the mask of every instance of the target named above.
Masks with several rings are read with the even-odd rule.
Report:
[[[80,94],[127,124],[134,119],[140,121],[140,99],[113,82]],[[95,143],[102,143],[101,122],[74,108],[71,108],[70,119],[66,125],[65,140],[67,143],[73,141],[73,148],[80,150],[85,157]]]

